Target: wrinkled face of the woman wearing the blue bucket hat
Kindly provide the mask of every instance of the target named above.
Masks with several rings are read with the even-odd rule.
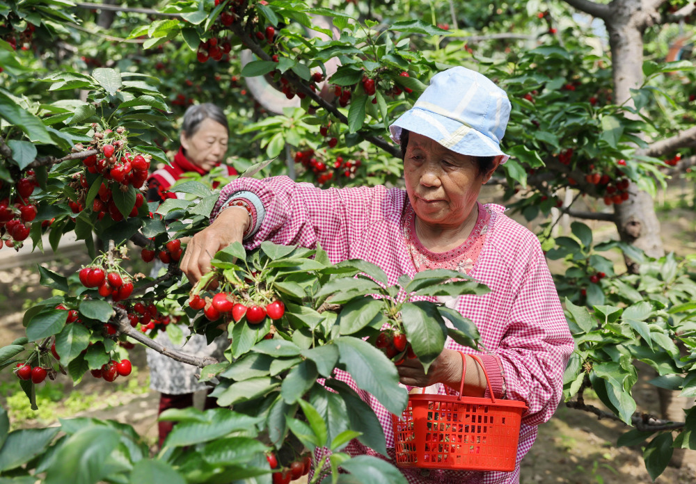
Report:
[[[491,178],[495,168],[479,174],[473,156],[448,150],[426,136],[409,134],[404,156],[406,192],[416,216],[427,224],[442,227],[463,224],[482,184]]]

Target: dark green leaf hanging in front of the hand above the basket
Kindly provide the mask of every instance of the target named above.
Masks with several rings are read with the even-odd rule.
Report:
[[[406,337],[425,372],[445,348],[447,327],[432,302],[406,302],[401,308]]]

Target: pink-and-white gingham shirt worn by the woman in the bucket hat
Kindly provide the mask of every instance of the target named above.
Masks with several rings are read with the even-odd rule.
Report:
[[[237,191],[260,197],[266,215],[258,232],[246,243],[257,247],[269,240],[313,248],[320,243],[335,264],[364,259],[377,264],[397,284],[402,274],[413,277],[416,268],[402,233],[409,204],[406,192],[384,186],[329,188],[295,183],[288,177],[238,178],[228,184],[213,210],[216,216],[227,198]],[[484,246],[470,274],[488,285],[484,296],[459,296],[448,302],[477,325],[483,344],[503,364],[507,398],[523,401],[523,414],[512,472],[429,471],[402,469],[411,484],[517,483],[520,462],[537,437],[537,425],[547,421],[562,396],[563,372],[574,349],[551,274],[537,237],[508,218],[500,205],[489,204],[491,220]],[[475,350],[448,339],[445,346],[464,353]],[[360,390],[347,373],[336,378],[351,385],[381,422],[387,448],[393,448],[391,414],[373,396]],[[445,393],[443,385],[439,393]],[[351,455],[378,455],[354,439],[346,448]]]

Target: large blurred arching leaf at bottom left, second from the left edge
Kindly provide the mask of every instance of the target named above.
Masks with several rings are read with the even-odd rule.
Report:
[[[46,484],[93,484],[105,477],[106,461],[118,446],[113,428],[82,428],[63,442],[46,472]]]

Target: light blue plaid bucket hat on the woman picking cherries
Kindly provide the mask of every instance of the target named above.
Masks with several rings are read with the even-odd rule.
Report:
[[[389,131],[401,143],[403,129],[427,136],[443,147],[470,156],[509,155],[500,151],[500,140],[510,117],[507,94],[483,74],[466,67],[438,72]]]

